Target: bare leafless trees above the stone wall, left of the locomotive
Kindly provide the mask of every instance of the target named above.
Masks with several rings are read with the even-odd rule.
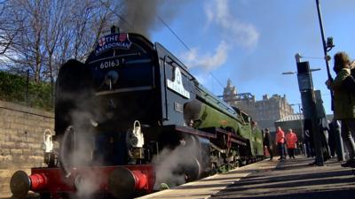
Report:
[[[0,22],[0,36],[7,36],[0,37],[0,42],[8,44],[3,45],[6,66],[17,73],[29,69],[36,82],[53,83],[59,65],[69,58],[83,61],[89,55],[99,35],[117,21],[120,4],[114,0],[9,0],[0,13],[16,30],[2,31]]]

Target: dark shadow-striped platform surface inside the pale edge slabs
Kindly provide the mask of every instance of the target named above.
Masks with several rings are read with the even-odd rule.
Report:
[[[325,166],[309,165],[310,158],[280,162],[272,171],[252,172],[210,198],[354,199],[355,176],[336,158]]]

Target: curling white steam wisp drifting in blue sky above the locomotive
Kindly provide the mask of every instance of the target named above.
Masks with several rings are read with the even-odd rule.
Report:
[[[228,0],[209,1],[205,5],[205,13],[208,25],[217,26],[222,39],[213,54],[201,54],[199,48],[184,53],[182,57],[190,67],[200,67],[205,72],[210,72],[225,64],[228,53],[234,46],[239,45],[246,49],[256,46],[259,39],[256,27],[234,17]]]

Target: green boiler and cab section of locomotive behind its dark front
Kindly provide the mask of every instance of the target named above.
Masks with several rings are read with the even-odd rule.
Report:
[[[211,151],[215,151],[211,153],[215,156],[212,165],[240,166],[263,159],[263,134],[250,116],[212,95],[197,82],[195,88],[196,100],[185,104],[185,118],[192,120],[194,128],[218,135],[217,139],[209,140]]]

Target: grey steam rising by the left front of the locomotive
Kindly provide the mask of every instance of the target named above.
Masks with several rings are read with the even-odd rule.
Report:
[[[93,151],[95,149],[95,127],[93,114],[99,114],[99,106],[92,106],[94,99],[92,98],[92,90],[83,88],[78,92],[61,92],[60,99],[71,101],[74,103],[75,109],[68,112],[71,119],[70,126],[73,132],[66,134],[61,139],[60,161],[61,165],[67,172],[77,168],[78,175],[75,177],[74,198],[90,199],[93,194],[98,191],[99,184],[102,182],[102,174],[96,173],[91,169],[91,165],[102,165],[93,163]],[[67,117],[62,115],[61,117]],[[101,117],[103,118],[103,117]],[[101,121],[99,121],[101,122]],[[98,161],[98,157],[95,160]],[[84,168],[84,169],[83,169]]]

